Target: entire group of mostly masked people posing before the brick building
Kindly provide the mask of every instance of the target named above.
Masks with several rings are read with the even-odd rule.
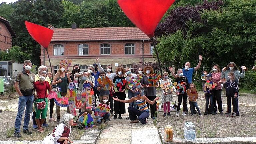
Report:
[[[47,120],[47,110],[48,110],[48,101],[50,101],[50,122],[56,122],[56,126],[51,134],[49,134],[44,141],[58,142],[62,143],[71,142],[68,137],[71,132],[71,126],[76,125],[77,122],[73,121],[73,116],[71,114],[65,114],[62,117],[60,116],[60,107],[56,105],[56,119],[53,118],[53,108],[54,100],[48,100],[48,93],[52,88],[60,87],[60,94],[65,97],[67,94],[67,86],[70,82],[75,83],[75,86],[79,91],[82,91],[83,84],[89,83],[94,91],[94,100],[93,107],[97,107],[97,103],[110,107],[110,112],[103,116],[104,122],[110,121],[110,117],[113,116],[113,119],[123,119],[122,114],[125,113],[125,103],[129,103],[128,113],[130,123],[146,124],[146,120],[149,116],[151,118],[157,117],[157,106],[156,101],[159,100],[159,97],[156,95],[156,88],[160,84],[168,82],[172,86],[167,91],[162,90],[161,101],[163,103],[163,116],[172,115],[170,112],[170,104],[174,101],[173,94],[177,94],[178,106],[175,116],[180,115],[180,106],[183,102],[182,115],[186,116],[188,114],[187,107],[187,97],[189,95],[187,92],[192,92],[196,86],[192,83],[192,75],[194,71],[198,70],[201,66],[202,57],[199,56],[199,62],[196,67],[190,68],[191,64],[186,62],[183,69],[178,69],[177,73],[173,71],[172,67],[169,67],[169,71],[172,76],[175,78],[174,82],[179,84],[179,87],[173,85],[172,79],[169,78],[168,73],[163,73],[163,78],[160,82],[156,82],[155,86],[153,82],[148,81],[148,78],[154,73],[154,70],[151,66],[145,66],[144,68],[138,69],[138,74],[132,74],[130,68],[124,69],[123,67],[118,67],[115,72],[112,70],[112,66],[107,66],[107,72],[103,70],[99,63],[99,58],[96,59],[96,63],[89,65],[87,72],[80,71],[79,65],[75,64],[72,69],[72,73],[67,71],[67,65],[65,63],[59,64],[59,70],[53,76],[53,73],[48,71],[47,67],[41,65],[38,68],[38,74],[31,73],[30,69],[32,67],[32,62],[26,60],[24,62],[24,70],[19,72],[16,77],[15,90],[19,94],[19,106],[18,113],[15,120],[15,137],[20,138],[20,126],[22,116],[25,110],[24,115],[24,134],[32,134],[29,130],[28,124],[30,120],[30,113],[33,112],[33,128],[37,129],[38,132],[43,132],[43,127],[49,127]],[[205,93],[205,112],[207,115],[210,99],[210,113],[212,115],[217,114],[217,104],[220,114],[223,114],[222,100],[221,100],[221,91],[222,83],[226,91],[227,96],[227,112],[226,116],[231,115],[239,116],[238,109],[238,83],[240,78],[244,78],[245,67],[242,66],[242,72],[239,71],[235,63],[230,62],[226,67],[221,71],[219,65],[213,65],[213,72],[208,73],[204,71],[205,80],[208,83],[216,84],[215,87],[209,88],[209,91]],[[111,90],[103,90],[104,84],[100,84],[97,80],[100,77],[108,77],[111,83]],[[129,81],[129,79],[140,79],[138,82],[138,87],[131,87],[126,82],[125,85],[121,87],[116,87],[120,91],[114,90],[114,83],[116,80],[121,82]],[[128,100],[126,98],[126,90],[128,91]],[[187,91],[186,91],[187,90]],[[216,103],[217,101],[217,103]],[[231,114],[231,101],[233,105],[233,112]],[[189,101],[191,115],[199,114],[202,115],[196,101]],[[197,111],[196,111],[197,109]],[[67,113],[69,112],[69,107],[67,107]],[[86,109],[85,105],[79,109],[79,116],[86,113],[92,113],[91,109]],[[117,117],[118,115],[118,117]],[[41,116],[41,118],[40,118]],[[79,117],[78,116],[78,117]],[[97,119],[97,123],[102,123],[101,119]]]

